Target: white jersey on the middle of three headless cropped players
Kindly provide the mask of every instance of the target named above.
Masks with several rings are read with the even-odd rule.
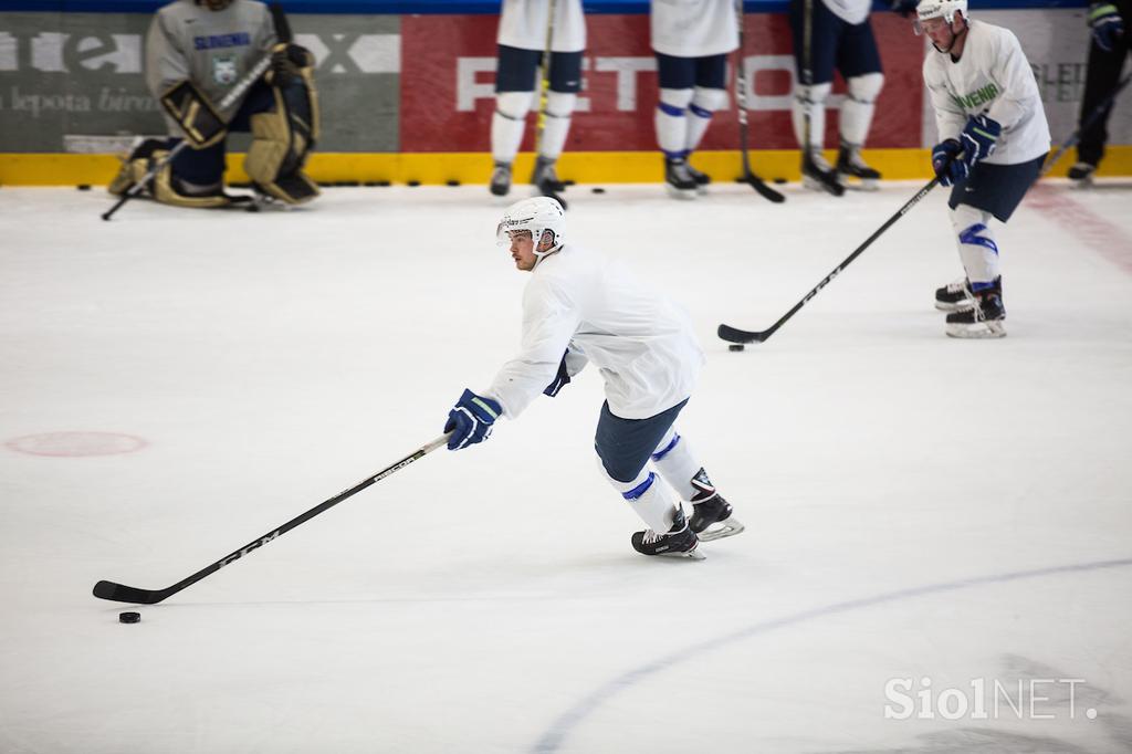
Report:
[[[652,0],[652,49],[676,58],[703,58],[739,48],[734,0]]]

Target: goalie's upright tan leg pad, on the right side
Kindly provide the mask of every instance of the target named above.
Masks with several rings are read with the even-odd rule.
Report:
[[[251,146],[243,168],[265,192],[288,204],[318,196],[318,186],[302,172],[319,135],[318,94],[310,69],[285,87],[272,87],[271,110],[251,117]]]

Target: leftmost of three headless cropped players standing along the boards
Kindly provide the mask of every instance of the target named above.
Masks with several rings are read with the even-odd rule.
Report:
[[[547,51],[551,5],[555,18],[550,60],[542,60]],[[523,142],[526,113],[532,104],[540,106],[534,94],[541,89],[541,83],[535,80],[540,61],[543,67],[549,66],[549,86],[531,183],[539,194],[560,194],[565,187],[558,180],[556,163],[566,145],[577,93],[582,89],[582,53],[585,51],[582,0],[557,0],[554,3],[547,0],[504,0],[496,41],[491,194],[506,196],[511,192],[512,163]]]

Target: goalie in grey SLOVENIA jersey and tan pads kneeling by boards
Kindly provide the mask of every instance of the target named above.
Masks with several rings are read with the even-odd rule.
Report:
[[[220,102],[271,57],[271,67],[224,112]],[[161,101],[168,139],[144,139],[110,183],[122,195],[188,139],[147,187],[182,207],[224,207],[228,134],[250,132],[243,168],[259,194],[286,204],[318,196],[302,168],[318,139],[314,55],[277,42],[267,7],[256,0],[177,0],[157,11],[146,35],[146,83]]]

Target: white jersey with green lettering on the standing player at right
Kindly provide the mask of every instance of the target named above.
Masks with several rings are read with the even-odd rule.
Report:
[[[958,139],[971,115],[1002,125],[994,154],[984,162],[1012,165],[1049,152],[1049,126],[1030,63],[1010,29],[970,22],[963,54],[932,50],[924,83],[935,106],[940,140]]]

